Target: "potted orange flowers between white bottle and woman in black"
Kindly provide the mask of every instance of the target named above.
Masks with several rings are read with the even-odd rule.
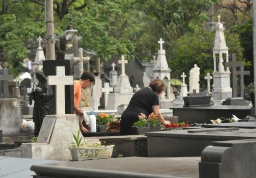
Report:
[[[115,122],[117,120],[117,118],[116,118],[116,114],[115,113],[106,114],[106,113],[102,112],[101,114],[99,114],[97,116],[96,120],[97,120],[97,124],[99,126],[100,132],[106,132],[108,124],[110,122]]]

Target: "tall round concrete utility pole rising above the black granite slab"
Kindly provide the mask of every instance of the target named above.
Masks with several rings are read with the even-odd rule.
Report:
[[[53,0],[45,0],[46,60],[55,60]]]

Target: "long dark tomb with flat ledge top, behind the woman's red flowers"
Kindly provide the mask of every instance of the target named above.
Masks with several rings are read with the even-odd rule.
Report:
[[[220,117],[231,118],[232,114],[243,119],[251,114],[250,106],[229,106],[229,105],[213,105],[183,108],[181,106],[171,107],[174,116],[178,116],[179,122],[189,123],[211,123],[211,119],[215,120]]]

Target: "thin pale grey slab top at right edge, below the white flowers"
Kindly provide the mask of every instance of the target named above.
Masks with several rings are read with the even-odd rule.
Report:
[[[220,124],[207,124],[202,125],[202,127],[212,128],[212,127],[238,127],[238,128],[255,128],[255,122],[230,122],[230,123],[220,123]]]

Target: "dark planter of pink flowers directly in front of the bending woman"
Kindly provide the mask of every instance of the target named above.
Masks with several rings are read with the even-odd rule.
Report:
[[[138,116],[139,120],[133,123],[132,134],[141,135],[146,132],[157,132],[161,131],[161,123],[157,120],[157,117],[154,113],[151,113],[148,118],[145,114],[140,113]]]

